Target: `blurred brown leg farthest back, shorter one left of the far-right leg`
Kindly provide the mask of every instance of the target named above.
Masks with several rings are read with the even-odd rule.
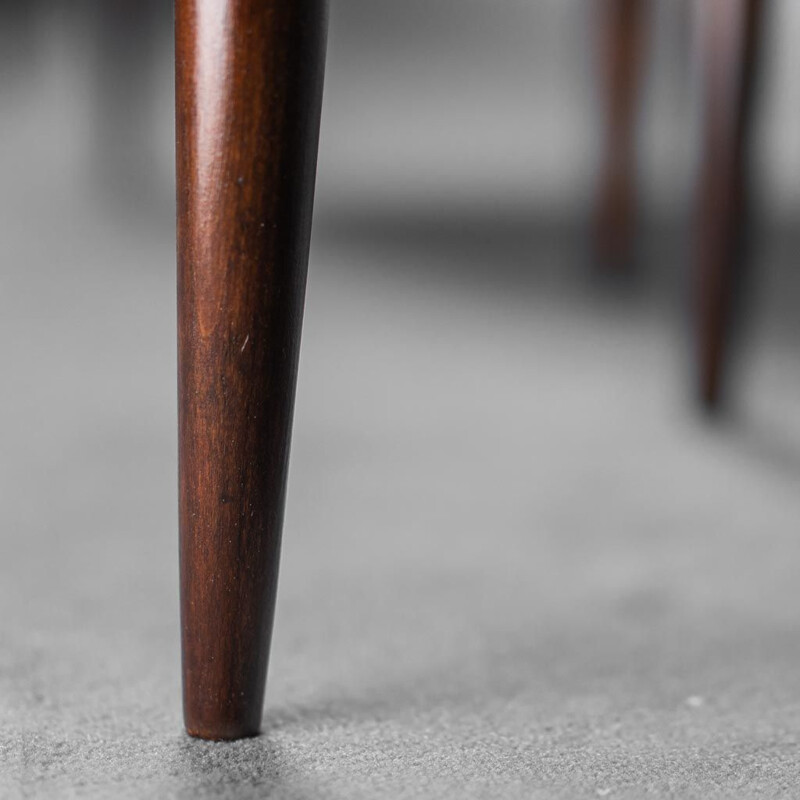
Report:
[[[636,95],[647,0],[603,0],[600,24],[604,151],[596,208],[596,255],[606,268],[627,266],[636,182]]]

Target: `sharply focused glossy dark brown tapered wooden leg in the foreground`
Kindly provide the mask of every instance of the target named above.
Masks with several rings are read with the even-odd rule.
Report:
[[[324,0],[176,0],[186,729],[256,734],[306,282]]]

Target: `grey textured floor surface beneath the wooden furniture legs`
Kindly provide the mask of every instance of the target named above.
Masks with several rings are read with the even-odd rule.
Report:
[[[707,425],[679,315],[527,225],[321,235],[264,734],[202,743],[172,240],[49,218],[4,227],[0,796],[797,796],[791,335]]]

